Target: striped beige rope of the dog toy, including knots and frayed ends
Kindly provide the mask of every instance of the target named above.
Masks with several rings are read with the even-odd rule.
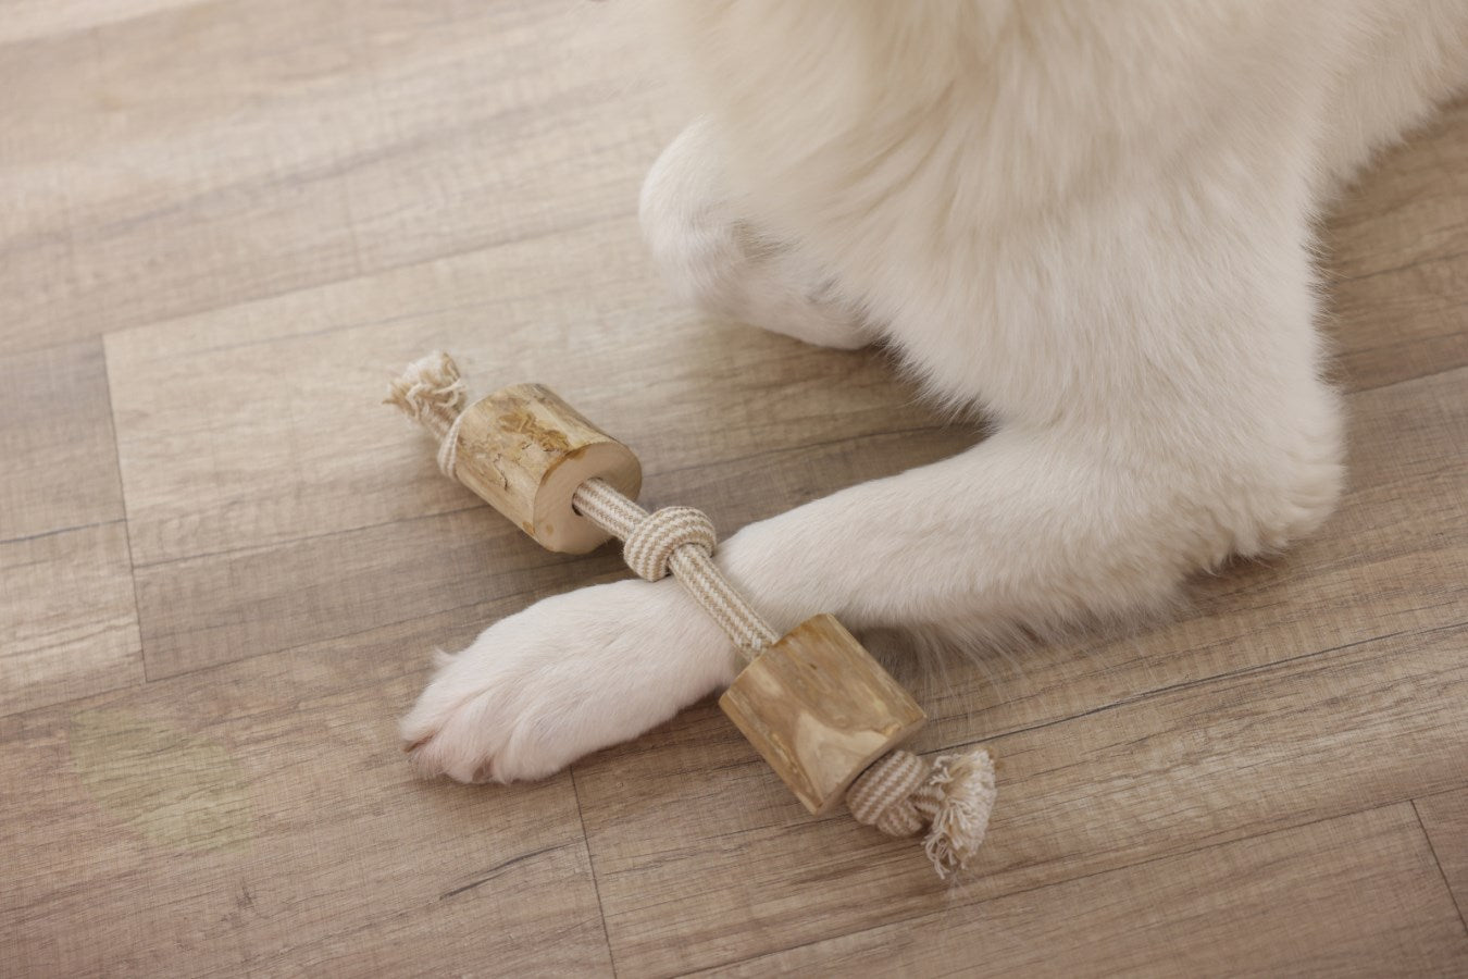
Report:
[[[465,401],[458,365],[439,352],[410,364],[392,383],[386,404],[437,437],[439,468],[454,477]],[[664,506],[649,514],[599,478],[581,483],[571,505],[622,542],[622,558],[640,578],[678,578],[746,660],[780,641],[780,634],[713,564],[718,539],[713,521],[702,511]],[[942,754],[931,765],[912,751],[894,750],[851,782],[846,804],[857,822],[890,837],[926,829],[923,848],[938,876],[947,878],[963,869],[984,842],[994,796],[994,762],[984,749]]]

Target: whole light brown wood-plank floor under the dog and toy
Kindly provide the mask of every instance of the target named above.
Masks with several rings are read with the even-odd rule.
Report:
[[[680,110],[615,6],[4,6],[0,973],[1468,973],[1468,104],[1326,232],[1324,531],[920,690],[922,750],[1003,763],[960,885],[711,705],[411,778],[435,646],[621,572],[437,474],[377,404],[408,358],[574,393],[725,530],[978,437],[668,299],[633,211]]]

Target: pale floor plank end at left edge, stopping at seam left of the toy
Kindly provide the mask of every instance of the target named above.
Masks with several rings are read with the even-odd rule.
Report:
[[[142,681],[101,343],[0,355],[0,713]]]

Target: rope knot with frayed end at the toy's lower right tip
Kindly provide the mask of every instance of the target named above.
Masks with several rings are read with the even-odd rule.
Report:
[[[851,782],[846,806],[888,837],[928,829],[923,848],[938,876],[962,870],[984,842],[994,809],[994,760],[984,749],[942,754],[929,766],[891,751]]]

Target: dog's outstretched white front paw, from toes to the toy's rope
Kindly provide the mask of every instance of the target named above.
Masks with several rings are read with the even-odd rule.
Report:
[[[543,778],[727,685],[735,663],[730,641],[671,580],[583,589],[442,656],[402,737],[426,775]]]

